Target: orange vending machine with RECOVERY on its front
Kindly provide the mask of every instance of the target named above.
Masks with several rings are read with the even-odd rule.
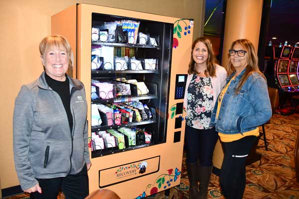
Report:
[[[192,19],[73,5],[52,16],[85,85],[90,192],[142,199],[179,185]]]

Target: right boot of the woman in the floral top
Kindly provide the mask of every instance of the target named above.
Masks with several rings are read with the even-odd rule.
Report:
[[[208,187],[209,187],[209,183],[210,183],[211,173],[212,173],[212,167],[199,166],[199,169],[198,169],[198,175],[199,175],[198,199],[207,199],[208,198]]]

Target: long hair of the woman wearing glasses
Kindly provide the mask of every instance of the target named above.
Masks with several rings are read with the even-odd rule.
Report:
[[[233,49],[234,45],[237,43],[240,44],[241,46],[243,46],[246,50],[247,66],[246,66],[245,74],[240,79],[238,87],[236,88],[236,91],[235,91],[236,94],[238,94],[240,92],[242,86],[244,85],[244,83],[246,82],[248,77],[254,72],[259,73],[266,80],[265,76],[261,73],[261,71],[259,69],[258,55],[256,54],[255,48],[254,48],[253,44],[251,43],[251,41],[249,41],[248,39],[238,39],[232,43],[230,49]],[[227,64],[227,73],[228,73],[228,76],[230,76],[232,73],[235,73],[236,70],[235,70],[235,67],[232,65],[229,54],[228,54],[228,57],[229,57],[229,59],[228,59],[228,64]]]

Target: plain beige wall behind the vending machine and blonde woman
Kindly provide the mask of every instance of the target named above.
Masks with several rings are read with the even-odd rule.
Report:
[[[203,35],[205,0],[0,0],[1,189],[19,185],[12,151],[14,99],[21,85],[42,72],[38,44],[51,32],[51,15],[79,2],[193,18],[193,36]]]

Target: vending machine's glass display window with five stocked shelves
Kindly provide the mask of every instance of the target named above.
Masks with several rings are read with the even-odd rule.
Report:
[[[91,28],[92,158],[164,143],[173,24],[92,13]]]

